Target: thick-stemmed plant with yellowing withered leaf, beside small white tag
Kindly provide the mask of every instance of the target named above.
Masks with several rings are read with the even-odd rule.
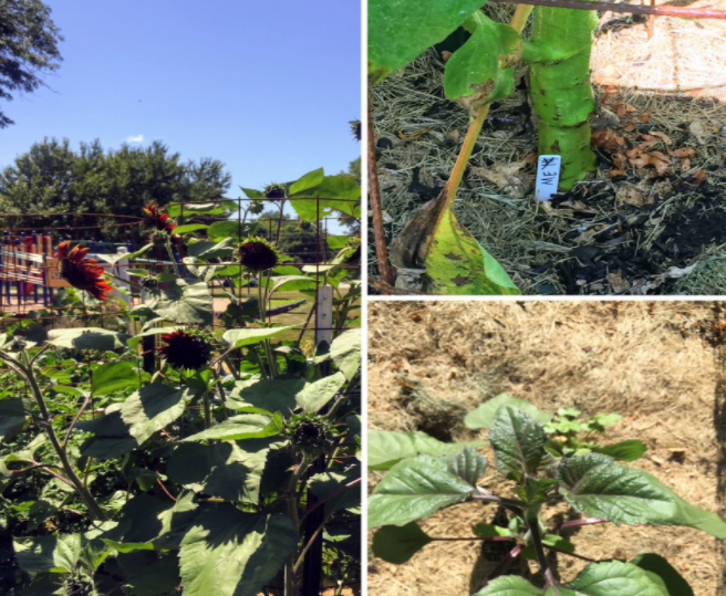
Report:
[[[560,187],[572,188],[594,167],[588,117],[594,107],[589,82],[593,11],[537,8],[531,41],[520,39],[531,7],[520,6],[511,25],[495,23],[469,0],[371,0],[369,74],[374,84],[442,42],[458,27],[470,38],[446,63],[446,96],[471,118],[456,165],[440,196],[414,213],[391,249],[391,262],[421,276],[436,294],[518,294],[489,253],[457,221],[456,194],[474,145],[496,100],[515,88],[515,66],[531,64],[530,91],[539,124],[539,153],[562,156]],[[407,285],[405,278],[402,284]]]

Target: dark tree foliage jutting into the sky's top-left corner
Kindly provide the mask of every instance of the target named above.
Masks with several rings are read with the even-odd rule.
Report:
[[[40,75],[63,60],[59,31],[40,0],[0,0],[0,100],[12,101],[11,92],[32,93],[45,84]],[[0,111],[0,128],[11,124]]]

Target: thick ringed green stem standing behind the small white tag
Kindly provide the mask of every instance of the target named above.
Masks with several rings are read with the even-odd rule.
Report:
[[[590,84],[594,11],[536,7],[532,36],[522,59],[530,62],[532,105],[539,122],[540,155],[562,156],[560,188],[570,189],[594,169]]]

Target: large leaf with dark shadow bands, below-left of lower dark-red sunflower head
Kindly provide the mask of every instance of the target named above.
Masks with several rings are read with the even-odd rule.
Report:
[[[182,416],[191,396],[189,389],[160,383],[142,387],[123,404],[110,406],[105,416],[76,425],[79,430],[95,435],[83,446],[83,454],[108,459],[128,453]]]

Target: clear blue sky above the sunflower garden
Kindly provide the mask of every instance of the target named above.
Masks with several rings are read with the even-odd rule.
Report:
[[[12,102],[0,167],[43,137],[214,157],[261,188],[361,151],[360,0],[45,0],[65,41],[49,88]],[[143,137],[143,140],[141,138]]]

